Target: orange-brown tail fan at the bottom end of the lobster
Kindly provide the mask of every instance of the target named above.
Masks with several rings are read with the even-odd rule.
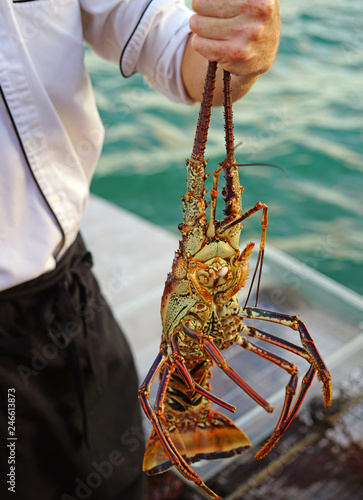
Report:
[[[231,419],[222,413],[206,407],[192,409],[180,415],[169,434],[180,455],[188,462],[215,460],[239,455],[251,447],[250,440]],[[160,474],[172,467],[160,439],[154,429],[146,444],[143,470],[149,475]]]

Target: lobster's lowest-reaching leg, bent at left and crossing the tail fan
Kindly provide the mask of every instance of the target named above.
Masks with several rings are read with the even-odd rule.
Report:
[[[156,374],[160,371],[162,366],[164,365],[163,375],[161,377],[161,381],[159,384],[158,393],[155,401],[155,408],[153,409],[149,402],[149,393],[151,385],[155,379]],[[172,465],[176,467],[176,469],[188,480],[193,481],[200,488],[202,488],[211,498],[220,499],[214,491],[208,488],[206,484],[202,481],[200,476],[196,474],[193,469],[188,465],[182,455],[179,453],[175,444],[173,443],[168,430],[163,425],[161,418],[163,415],[163,407],[165,394],[167,391],[167,387],[170,381],[170,378],[175,370],[175,367],[168,363],[165,359],[165,355],[163,355],[162,351],[160,351],[159,355],[155,359],[148,375],[145,378],[145,381],[141,385],[139,389],[139,398],[141,401],[142,408],[152,423],[155,432],[160,439],[163,448],[165,449]]]

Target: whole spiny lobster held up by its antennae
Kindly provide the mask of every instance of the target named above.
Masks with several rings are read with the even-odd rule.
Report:
[[[248,243],[244,249],[239,250],[241,223],[262,210],[262,236],[253,283],[258,268],[258,281],[261,275],[268,208],[258,202],[242,213],[243,188],[239,183],[238,164],[234,154],[230,74],[226,71],[223,78],[226,157],[213,174],[210,217],[207,220],[206,208],[209,203],[205,200],[207,162],[204,160],[204,151],[216,67],[215,62],[209,63],[193,152],[191,159],[187,160],[187,193],[182,198],[183,223],[179,225],[182,239],[162,297],[161,347],[139,390],[141,405],[153,425],[146,445],[144,470],[153,475],[174,465],[184,477],[200,486],[211,498],[220,497],[208,488],[189,464],[201,459],[231,457],[251,446],[247,436],[232,420],[211,407],[211,402],[214,402],[232,412],[235,410],[233,405],[211,392],[211,366],[217,365],[256,403],[267,412],[273,411],[273,407],[228,365],[221,354],[223,349],[234,343],[238,344],[275,363],[290,375],[280,418],[256,458],[266,455],[290,425],[316,372],[323,383],[325,405],[328,407],[332,400],[330,373],[299,317],[258,308],[257,300],[255,307],[241,307],[237,301],[238,292],[248,275],[248,261],[254,247],[254,243]],[[218,221],[215,215],[218,179],[222,170],[225,174],[225,218]],[[243,323],[244,319],[288,326],[298,332],[302,347],[254,326],[247,326]],[[298,384],[295,363],[254,344],[251,337],[301,356],[310,364],[295,400]],[[149,394],[157,374],[160,377],[159,388],[152,407]]]

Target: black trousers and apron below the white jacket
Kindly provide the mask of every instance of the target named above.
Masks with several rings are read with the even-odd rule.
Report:
[[[0,498],[142,499],[137,375],[91,266],[79,236],[0,292]]]

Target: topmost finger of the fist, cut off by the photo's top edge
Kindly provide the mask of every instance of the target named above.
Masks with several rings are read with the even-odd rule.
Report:
[[[268,17],[278,8],[278,0],[193,0],[192,9],[201,16],[231,18],[239,14],[248,17]]]

